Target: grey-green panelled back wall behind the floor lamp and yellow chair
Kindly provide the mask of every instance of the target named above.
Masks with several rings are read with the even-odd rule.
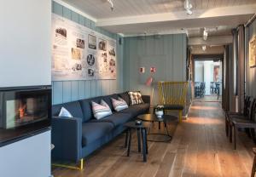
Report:
[[[186,80],[185,34],[172,34],[148,37],[125,37],[124,48],[124,89],[140,90],[143,94],[152,94],[154,88],[154,104],[157,103],[157,86],[145,85],[150,76],[150,67],[156,67],[155,81]],[[141,74],[140,67],[146,72]]]

